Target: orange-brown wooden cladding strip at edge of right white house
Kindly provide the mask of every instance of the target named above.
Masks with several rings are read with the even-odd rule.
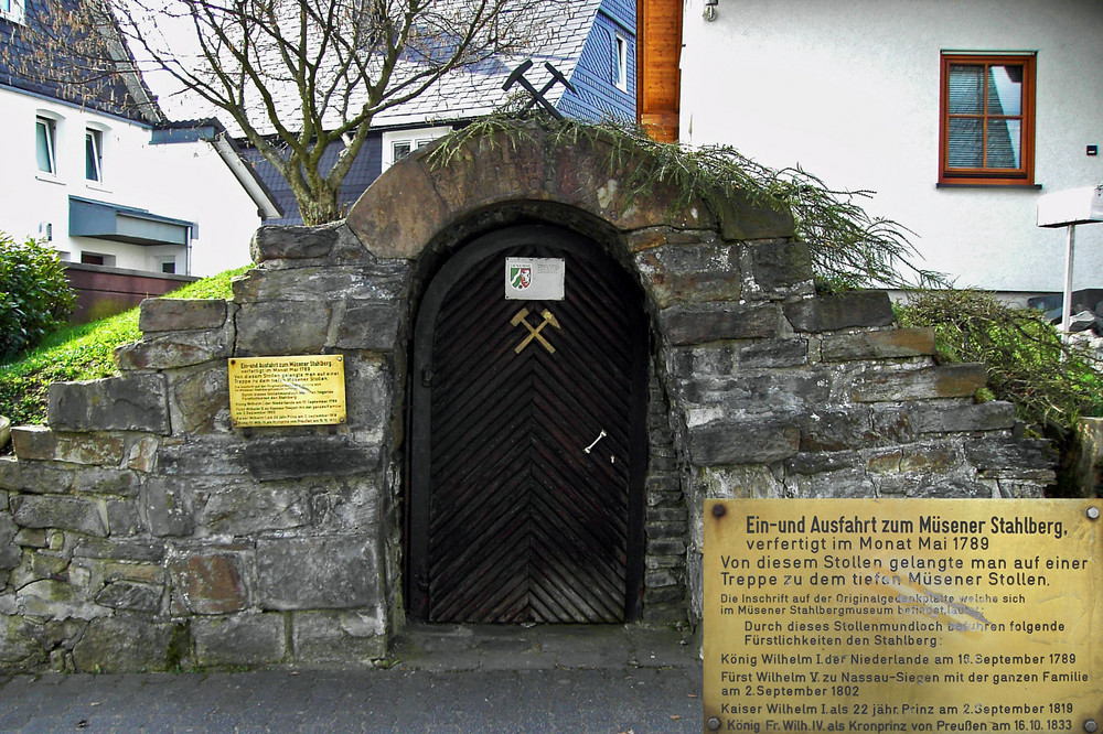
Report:
[[[682,73],[682,1],[638,0],[639,121],[662,142],[678,139]]]

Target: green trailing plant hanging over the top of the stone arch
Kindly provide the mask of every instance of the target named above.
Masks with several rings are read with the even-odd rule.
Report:
[[[657,142],[642,129],[613,120],[592,123],[534,115],[526,122],[515,111],[507,106],[445,137],[429,153],[429,165],[443,168],[483,141],[514,149],[535,144],[533,125],[539,125],[550,147],[576,150],[585,143],[599,153],[598,162],[608,172],[621,172],[624,206],[650,196],[663,182],[673,194],[672,213],[699,201],[717,214],[743,197],[790,212],[796,236],[808,246],[821,291],[949,284],[944,274],[919,265],[920,253],[908,240],[907,227],[866,213],[861,204],[871,191],[835,191],[799,165],[773,170],[728,145]]]

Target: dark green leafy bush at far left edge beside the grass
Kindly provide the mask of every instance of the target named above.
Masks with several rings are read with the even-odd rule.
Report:
[[[41,343],[65,323],[75,301],[52,248],[0,233],[0,361]]]

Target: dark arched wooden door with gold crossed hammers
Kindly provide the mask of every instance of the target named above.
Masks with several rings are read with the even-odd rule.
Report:
[[[518,287],[527,259],[561,261],[563,299],[506,299],[507,258]],[[414,618],[634,618],[647,334],[624,269],[564,229],[483,236],[433,278],[411,370]]]

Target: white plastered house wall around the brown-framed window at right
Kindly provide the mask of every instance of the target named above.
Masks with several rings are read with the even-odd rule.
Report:
[[[874,190],[957,284],[1059,292],[1065,231],[1039,196],[1103,183],[1100,0],[703,0],[685,6],[682,139],[727,143],[829,185]],[[1036,51],[1035,183],[938,188],[942,51]],[[1077,230],[1074,288],[1103,287],[1103,224]]]

